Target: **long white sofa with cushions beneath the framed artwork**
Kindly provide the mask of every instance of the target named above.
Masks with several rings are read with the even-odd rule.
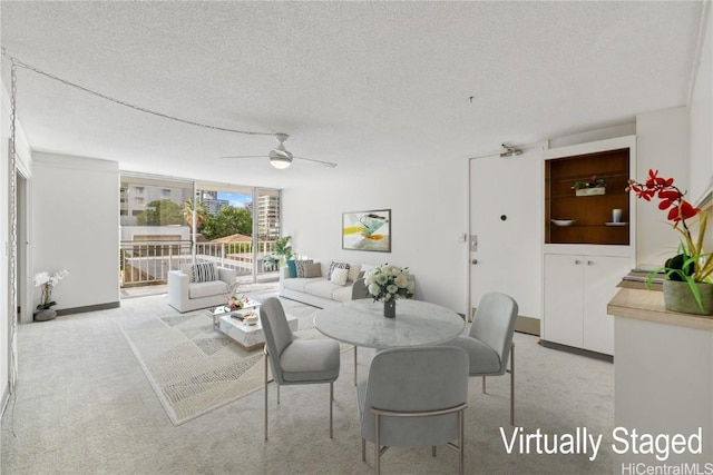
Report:
[[[313,260],[318,261],[318,259]],[[333,261],[349,264],[346,284],[339,285],[328,279]],[[351,300],[354,281],[363,277],[363,271],[375,267],[370,264],[362,265],[336,259],[319,260],[319,265],[321,269],[319,277],[290,277],[290,269],[283,267],[280,271],[280,296],[319,308],[335,307],[342,301]]]

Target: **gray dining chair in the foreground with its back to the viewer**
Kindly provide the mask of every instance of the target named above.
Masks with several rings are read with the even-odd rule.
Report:
[[[448,346],[383,349],[356,386],[361,458],[374,444],[374,466],[388,447],[446,445],[459,454],[463,473],[463,425],[468,407],[468,355]]]

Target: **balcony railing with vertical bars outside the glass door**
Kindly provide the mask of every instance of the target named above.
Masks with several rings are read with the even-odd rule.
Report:
[[[276,271],[263,260],[275,241],[260,241],[257,274]],[[193,244],[186,240],[121,241],[119,271],[121,287],[139,287],[166,284],[169,270],[193,264]],[[196,263],[215,263],[235,269],[238,276],[253,274],[252,243],[197,243]]]

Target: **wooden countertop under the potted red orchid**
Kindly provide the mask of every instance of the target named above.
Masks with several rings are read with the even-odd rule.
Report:
[[[621,288],[606,309],[608,315],[615,317],[636,318],[713,331],[713,316],[668,311],[664,308],[664,294],[662,291]]]

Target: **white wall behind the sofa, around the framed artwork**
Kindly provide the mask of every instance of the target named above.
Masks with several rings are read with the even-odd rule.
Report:
[[[468,162],[371,170],[350,182],[283,191],[283,235],[293,249],[318,260],[343,259],[408,266],[417,298],[466,311]],[[342,249],[342,212],[391,209],[391,253]]]

